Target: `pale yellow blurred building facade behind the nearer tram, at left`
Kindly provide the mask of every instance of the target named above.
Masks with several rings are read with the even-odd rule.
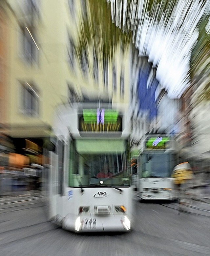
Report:
[[[8,41],[3,41],[1,49],[10,50],[2,57],[7,58],[3,61],[7,63],[3,97],[7,111],[3,111],[1,132],[12,139],[16,153],[40,163],[59,104],[93,95],[129,107],[132,47],[124,51],[117,47],[113,59],[101,62],[89,45],[78,58],[75,46],[80,21],[89,10],[84,0],[6,3]],[[2,27],[4,19],[0,22]]]

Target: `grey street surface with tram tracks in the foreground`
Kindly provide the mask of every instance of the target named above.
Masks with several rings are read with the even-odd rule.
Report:
[[[40,197],[2,198],[0,256],[210,255],[210,204],[180,215],[176,203],[134,204],[132,232],[74,234],[47,221]]]

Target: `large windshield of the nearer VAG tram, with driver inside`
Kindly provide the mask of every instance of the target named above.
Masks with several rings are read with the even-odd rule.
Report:
[[[125,140],[75,140],[70,146],[69,186],[130,186]]]

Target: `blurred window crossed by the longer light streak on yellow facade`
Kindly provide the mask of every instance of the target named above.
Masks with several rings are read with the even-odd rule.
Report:
[[[37,40],[35,37],[35,31],[34,31],[34,28],[32,28],[32,27],[27,27],[27,28],[26,28],[26,26],[21,27],[22,54],[23,54],[24,59],[28,63],[30,63],[30,64],[37,63],[38,48],[36,46]],[[31,35],[30,35],[29,31],[30,31]],[[33,37],[36,44],[34,43],[31,36]]]

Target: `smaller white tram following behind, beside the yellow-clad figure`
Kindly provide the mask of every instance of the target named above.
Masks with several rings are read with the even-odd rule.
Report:
[[[174,200],[175,190],[171,178],[177,153],[172,139],[166,135],[150,135],[145,149],[138,157],[137,196],[143,200]]]

